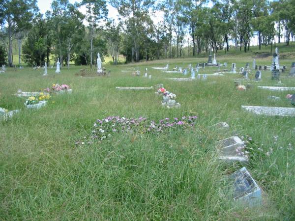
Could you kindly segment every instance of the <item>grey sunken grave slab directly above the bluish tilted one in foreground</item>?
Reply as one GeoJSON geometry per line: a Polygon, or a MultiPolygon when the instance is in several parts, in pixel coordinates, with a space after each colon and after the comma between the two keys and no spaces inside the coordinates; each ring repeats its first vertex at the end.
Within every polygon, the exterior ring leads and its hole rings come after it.
{"type": "Polygon", "coordinates": [[[244,142],[234,136],[216,142],[218,159],[226,162],[248,162],[248,156],[244,153],[244,142]]]}

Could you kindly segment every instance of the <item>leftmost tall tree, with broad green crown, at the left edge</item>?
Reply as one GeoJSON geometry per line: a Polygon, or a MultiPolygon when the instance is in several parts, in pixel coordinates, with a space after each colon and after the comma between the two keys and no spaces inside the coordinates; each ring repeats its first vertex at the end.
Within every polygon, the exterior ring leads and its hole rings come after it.
{"type": "Polygon", "coordinates": [[[12,38],[28,26],[38,11],[36,0],[1,0],[0,1],[0,21],[6,28],[7,41],[0,36],[1,41],[7,47],[8,65],[13,65],[12,60],[12,38]]]}

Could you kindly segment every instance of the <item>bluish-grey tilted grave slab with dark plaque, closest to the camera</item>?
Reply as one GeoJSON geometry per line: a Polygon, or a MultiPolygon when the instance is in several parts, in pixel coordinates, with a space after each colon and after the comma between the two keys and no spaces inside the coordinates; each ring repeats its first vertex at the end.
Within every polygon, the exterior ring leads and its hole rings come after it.
{"type": "Polygon", "coordinates": [[[245,167],[237,170],[228,178],[229,195],[236,203],[249,207],[262,204],[262,191],[245,167]]]}

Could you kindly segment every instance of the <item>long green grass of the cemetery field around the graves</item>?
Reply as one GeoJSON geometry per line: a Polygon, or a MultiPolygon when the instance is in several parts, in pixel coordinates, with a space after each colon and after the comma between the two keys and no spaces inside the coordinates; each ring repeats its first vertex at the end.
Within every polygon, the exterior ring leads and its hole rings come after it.
{"type": "MultiPolygon", "coordinates": [[[[280,65],[290,70],[295,60],[289,50],[280,65]],[[288,58],[288,59],[287,59],[288,58]]],[[[246,62],[254,54],[217,55],[217,61],[246,62]]],[[[169,60],[170,67],[193,66],[207,58],[169,60]]],[[[257,64],[271,57],[257,57],[257,64]]],[[[295,118],[253,115],[241,105],[292,107],[287,93],[260,90],[257,85],[276,85],[269,71],[253,87],[237,91],[238,74],[208,77],[207,81],[174,82],[151,69],[166,60],[139,63],[152,79],[133,77],[121,70],[137,64],[107,66],[110,77],[76,77],[81,67],[72,66],[55,74],[48,69],[8,69],[0,75],[0,107],[21,112],[0,122],[0,220],[295,220],[295,118]],[[52,95],[46,107],[27,110],[25,99],[14,93],[41,91],[53,83],[66,83],[72,95],[52,95]],[[180,109],[166,109],[154,91],[118,91],[116,86],[153,86],[163,83],[177,94],[180,109]],[[281,98],[267,100],[268,95],[281,98]],[[191,130],[159,134],[117,134],[110,141],[75,145],[88,136],[96,119],[110,115],[148,117],[148,120],[197,115],[191,130]],[[210,125],[226,121],[227,132],[210,125]],[[215,141],[230,136],[249,136],[247,169],[263,189],[263,205],[236,206],[223,196],[224,177],[241,165],[226,165],[216,159],[215,141]],[[278,136],[275,139],[275,136],[278,136]],[[260,151],[258,148],[263,149],[260,151]],[[266,152],[273,152],[267,156],[266,152]]],[[[200,70],[211,74],[216,67],[200,70]]],[[[295,78],[281,76],[284,86],[295,78]]],[[[254,73],[250,78],[254,78],[254,73]]],[[[241,80],[242,83],[247,83],[241,80]]]]}

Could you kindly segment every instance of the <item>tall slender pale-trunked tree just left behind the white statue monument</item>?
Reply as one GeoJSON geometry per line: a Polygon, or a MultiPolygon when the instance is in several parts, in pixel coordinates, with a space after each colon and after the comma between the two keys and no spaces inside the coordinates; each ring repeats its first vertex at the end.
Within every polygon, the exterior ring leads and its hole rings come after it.
{"type": "Polygon", "coordinates": [[[85,5],[87,9],[86,21],[89,24],[90,67],[92,68],[93,39],[95,37],[99,22],[107,17],[108,9],[106,6],[106,0],[82,0],[81,5],[85,5]]]}

